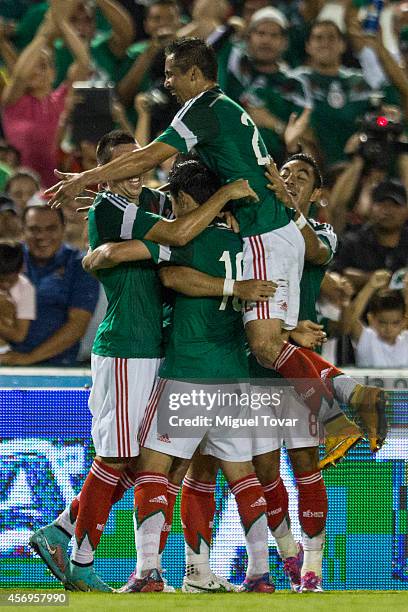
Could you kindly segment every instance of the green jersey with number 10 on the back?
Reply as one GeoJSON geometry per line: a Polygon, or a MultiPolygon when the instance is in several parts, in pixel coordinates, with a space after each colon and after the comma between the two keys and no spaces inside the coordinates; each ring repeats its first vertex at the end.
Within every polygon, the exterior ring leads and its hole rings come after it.
{"type": "MultiPolygon", "coordinates": [[[[240,279],[242,242],[223,224],[205,229],[185,247],[161,248],[160,259],[216,277],[240,279]]],[[[241,304],[232,297],[177,294],[172,329],[159,375],[181,379],[248,377],[241,304]]]]}

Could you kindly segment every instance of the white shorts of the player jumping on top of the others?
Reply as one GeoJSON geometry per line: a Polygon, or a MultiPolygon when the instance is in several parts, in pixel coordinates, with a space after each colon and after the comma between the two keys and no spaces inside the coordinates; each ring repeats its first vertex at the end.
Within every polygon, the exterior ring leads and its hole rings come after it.
{"type": "Polygon", "coordinates": [[[304,259],[305,241],[293,221],[266,234],[244,238],[244,280],[270,280],[278,285],[267,302],[245,304],[245,325],[259,319],[280,319],[284,329],[296,327],[304,259]]]}

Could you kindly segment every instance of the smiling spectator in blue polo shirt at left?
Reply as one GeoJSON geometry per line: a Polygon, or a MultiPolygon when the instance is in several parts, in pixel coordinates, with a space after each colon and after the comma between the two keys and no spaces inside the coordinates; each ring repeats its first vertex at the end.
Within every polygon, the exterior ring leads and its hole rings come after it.
{"type": "Polygon", "coordinates": [[[72,366],[95,309],[98,283],[83,271],[80,251],[63,244],[61,211],[30,206],[23,223],[25,270],[37,291],[37,319],[1,363],[72,366]]]}

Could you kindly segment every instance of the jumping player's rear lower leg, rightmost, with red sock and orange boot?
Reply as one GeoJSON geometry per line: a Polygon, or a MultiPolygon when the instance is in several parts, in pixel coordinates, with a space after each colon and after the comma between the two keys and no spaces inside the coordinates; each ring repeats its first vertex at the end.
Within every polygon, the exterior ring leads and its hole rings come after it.
{"type": "Polygon", "coordinates": [[[360,420],[372,452],[381,448],[387,435],[385,392],[379,387],[359,384],[314,351],[301,349],[313,361],[322,380],[341,404],[348,404],[360,420]]]}

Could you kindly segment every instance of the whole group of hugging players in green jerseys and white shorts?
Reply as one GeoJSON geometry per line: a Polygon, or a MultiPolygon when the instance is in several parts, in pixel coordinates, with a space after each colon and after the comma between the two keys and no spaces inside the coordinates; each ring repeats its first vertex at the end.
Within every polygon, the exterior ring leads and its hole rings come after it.
{"type": "MultiPolygon", "coordinates": [[[[83,261],[108,298],[92,352],[96,457],[70,506],[30,539],[70,590],[113,591],[93,560],[110,509],[130,488],[137,559],[120,592],[174,590],[162,578],[161,555],[180,488],[183,591],[235,590],[209,564],[221,469],[248,553],[239,590],[274,592],[270,530],[292,590],[322,591],[327,494],[321,470],[364,436],[373,452],[385,437],[382,391],[358,384],[311,350],[324,336],[316,300],[336,249],[332,228],[309,218],[320,198],[319,168],[299,153],[278,171],[249,115],[216,81],[209,46],[193,38],[172,43],[165,86],[183,106],[171,125],[143,148],[125,132],[110,132],[98,144],[96,168],[59,174],[50,190],[51,204],[63,206],[88,185],[105,186],[89,210],[83,261]],[[176,154],[171,198],[144,187],[143,174],[176,154]],[[166,333],[163,287],[174,297],[166,333]],[[270,389],[274,378],[287,379],[292,392],[280,406],[267,406],[274,426],[261,435],[244,428],[237,435],[211,420],[183,436],[168,427],[172,398],[218,397],[231,385],[251,395],[270,389]],[[289,431],[287,421],[300,426],[289,431]],[[298,487],[299,543],[279,472],[282,446],[298,487]]],[[[216,410],[241,417],[236,397],[216,410]]],[[[183,410],[197,414],[193,402],[184,401],[183,410]]]]}

